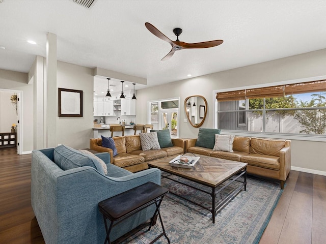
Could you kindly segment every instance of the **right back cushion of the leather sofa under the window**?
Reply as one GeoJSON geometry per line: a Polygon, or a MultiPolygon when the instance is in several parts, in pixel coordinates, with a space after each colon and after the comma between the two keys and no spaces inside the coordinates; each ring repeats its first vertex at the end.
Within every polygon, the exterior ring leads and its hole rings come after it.
{"type": "Polygon", "coordinates": [[[285,146],[285,140],[251,138],[250,153],[280,157],[280,150],[285,146]]]}

